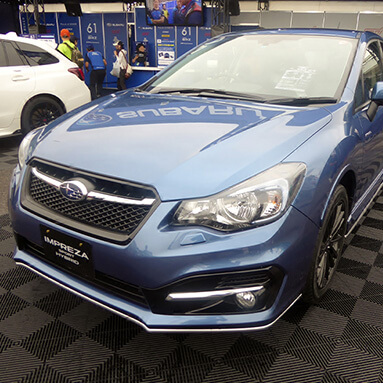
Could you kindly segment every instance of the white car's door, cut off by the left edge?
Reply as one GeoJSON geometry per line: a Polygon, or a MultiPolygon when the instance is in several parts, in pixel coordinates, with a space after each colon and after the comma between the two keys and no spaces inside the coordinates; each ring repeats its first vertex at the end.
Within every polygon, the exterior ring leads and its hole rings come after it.
{"type": "Polygon", "coordinates": [[[35,75],[22,52],[12,41],[0,41],[0,134],[19,129],[22,107],[35,88],[35,75]],[[14,120],[17,124],[14,128],[14,120]],[[13,125],[11,125],[14,123],[13,125]]]}

